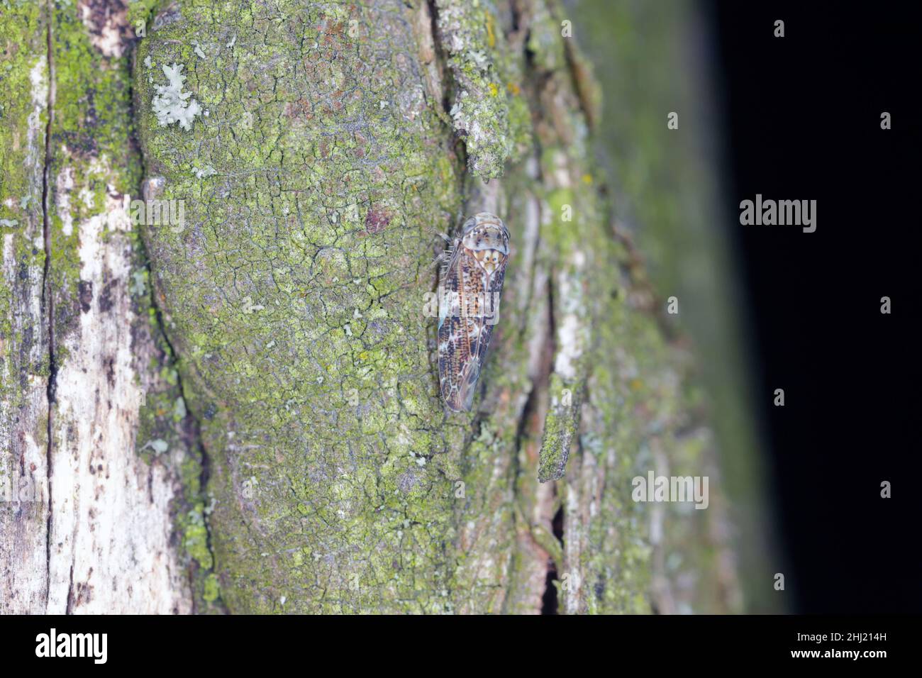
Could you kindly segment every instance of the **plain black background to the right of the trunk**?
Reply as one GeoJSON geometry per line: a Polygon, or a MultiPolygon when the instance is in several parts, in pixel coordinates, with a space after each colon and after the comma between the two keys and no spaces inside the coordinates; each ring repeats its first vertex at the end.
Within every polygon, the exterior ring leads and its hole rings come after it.
{"type": "Polygon", "coordinates": [[[727,214],[757,193],[818,202],[813,233],[739,223],[727,232],[749,291],[790,612],[922,609],[919,7],[707,10],[723,74],[727,214]],[[774,38],[779,18],[784,38],[774,38]],[[772,405],[775,388],[785,407],[772,405]],[[881,498],[885,480],[891,499],[881,498]]]}

